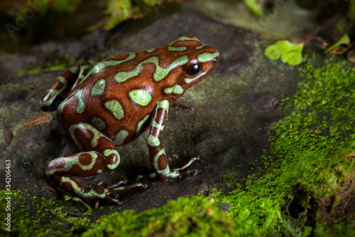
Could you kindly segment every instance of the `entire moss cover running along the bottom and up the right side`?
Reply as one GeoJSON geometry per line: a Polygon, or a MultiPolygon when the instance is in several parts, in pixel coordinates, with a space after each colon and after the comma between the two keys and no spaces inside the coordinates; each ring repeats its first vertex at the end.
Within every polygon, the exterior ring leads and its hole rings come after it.
{"type": "MultiPolygon", "coordinates": [[[[312,65],[315,61],[307,56],[300,65],[304,80],[295,97],[282,102],[281,110],[289,115],[271,128],[271,149],[261,157],[258,173],[242,184],[229,182],[228,193],[214,189],[209,197],[182,197],[158,209],[102,216],[97,223],[69,218],[52,201],[38,199],[32,211],[13,214],[13,233],[45,236],[60,232],[53,228],[58,223],[67,223],[70,228],[61,234],[82,234],[88,228],[84,236],[354,236],[354,219],[346,218],[354,210],[335,220],[317,211],[315,203],[332,196],[332,214],[349,198],[339,189],[351,184],[355,173],[354,157],[346,157],[355,150],[355,68],[345,60],[312,65]],[[231,204],[229,211],[218,207],[223,203],[231,204]],[[43,218],[49,223],[41,224],[43,218]]],[[[228,180],[238,173],[229,172],[228,180]]],[[[354,195],[354,185],[347,194],[354,195]]]]}

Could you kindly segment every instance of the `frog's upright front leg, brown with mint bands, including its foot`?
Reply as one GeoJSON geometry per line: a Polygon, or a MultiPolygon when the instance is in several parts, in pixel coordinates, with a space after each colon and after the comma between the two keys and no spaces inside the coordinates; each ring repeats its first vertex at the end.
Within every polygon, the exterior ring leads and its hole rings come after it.
{"type": "Polygon", "coordinates": [[[192,157],[185,166],[177,169],[170,169],[168,159],[166,157],[163,145],[160,142],[160,135],[163,132],[166,118],[168,117],[169,101],[160,100],[155,106],[153,111],[153,117],[151,120],[151,130],[147,139],[149,157],[155,173],[150,174],[149,177],[159,177],[161,180],[166,181],[168,179],[177,179],[187,174],[196,175],[197,170],[183,171],[192,164],[199,157],[192,157]]]}

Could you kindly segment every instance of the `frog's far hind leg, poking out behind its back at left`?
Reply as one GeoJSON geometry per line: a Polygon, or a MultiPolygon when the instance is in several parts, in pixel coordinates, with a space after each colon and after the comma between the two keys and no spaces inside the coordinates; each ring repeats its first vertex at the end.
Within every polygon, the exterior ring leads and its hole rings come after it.
{"type": "Polygon", "coordinates": [[[40,109],[43,111],[57,110],[61,100],[65,99],[67,93],[80,83],[91,68],[91,63],[82,63],[66,70],[58,78],[55,78],[40,100],[40,109]],[[57,101],[58,103],[56,103],[57,101]]]}

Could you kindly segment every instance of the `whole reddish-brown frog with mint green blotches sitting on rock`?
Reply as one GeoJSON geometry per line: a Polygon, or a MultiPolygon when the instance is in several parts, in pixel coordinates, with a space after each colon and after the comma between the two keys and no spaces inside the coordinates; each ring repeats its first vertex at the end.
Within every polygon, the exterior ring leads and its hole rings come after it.
{"type": "Polygon", "coordinates": [[[150,128],[146,144],[153,172],[138,178],[168,181],[195,176],[197,170],[187,167],[200,157],[171,168],[160,136],[170,106],[206,78],[218,60],[217,49],[195,36],[182,36],[160,48],[69,68],[45,92],[40,109],[58,110],[60,123],[77,152],[50,161],[45,175],[83,199],[123,204],[116,198],[119,192],[148,185],[127,184],[127,179],[122,179],[110,185],[84,186],[75,178],[113,172],[121,159],[116,146],[128,144],[150,128]]]}

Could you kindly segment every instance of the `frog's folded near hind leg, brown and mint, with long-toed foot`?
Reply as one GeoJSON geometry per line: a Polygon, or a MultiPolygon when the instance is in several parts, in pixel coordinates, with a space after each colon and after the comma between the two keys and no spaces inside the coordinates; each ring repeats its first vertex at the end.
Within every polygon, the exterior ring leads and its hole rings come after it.
{"type": "Polygon", "coordinates": [[[87,123],[79,122],[71,125],[69,133],[82,152],[53,159],[45,169],[47,177],[53,179],[63,189],[83,198],[104,199],[121,204],[121,201],[110,195],[136,186],[146,188],[146,184],[141,183],[118,186],[125,181],[111,186],[87,187],[80,184],[72,177],[89,177],[116,169],[120,161],[119,152],[111,139],[87,123]]]}

